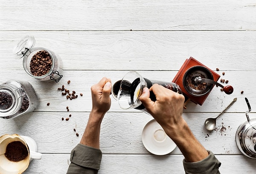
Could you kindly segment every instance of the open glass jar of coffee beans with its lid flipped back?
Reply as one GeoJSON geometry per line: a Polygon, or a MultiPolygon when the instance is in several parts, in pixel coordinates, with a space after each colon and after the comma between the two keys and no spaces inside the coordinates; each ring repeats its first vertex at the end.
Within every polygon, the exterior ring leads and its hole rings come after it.
{"type": "Polygon", "coordinates": [[[35,38],[25,36],[14,47],[13,53],[17,58],[23,58],[23,67],[31,77],[41,81],[55,81],[58,83],[63,75],[61,58],[49,49],[35,47],[35,38]]]}

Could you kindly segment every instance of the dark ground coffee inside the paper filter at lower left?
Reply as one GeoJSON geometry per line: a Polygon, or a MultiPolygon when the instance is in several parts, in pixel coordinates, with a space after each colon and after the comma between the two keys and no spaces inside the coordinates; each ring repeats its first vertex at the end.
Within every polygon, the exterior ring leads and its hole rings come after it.
{"type": "Polygon", "coordinates": [[[19,162],[28,156],[29,152],[25,145],[20,141],[10,142],[6,146],[4,154],[9,161],[19,162]]]}

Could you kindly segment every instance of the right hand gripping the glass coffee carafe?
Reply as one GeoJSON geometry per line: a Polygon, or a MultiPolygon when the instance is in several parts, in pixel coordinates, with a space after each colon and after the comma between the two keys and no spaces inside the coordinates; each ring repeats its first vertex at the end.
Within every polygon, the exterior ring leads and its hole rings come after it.
{"type": "Polygon", "coordinates": [[[158,84],[154,84],[149,90],[145,87],[143,94],[140,96],[140,101],[166,133],[170,128],[177,129],[178,125],[183,123],[184,100],[183,95],[158,84]],[[156,96],[155,102],[149,98],[150,91],[156,96]]]}

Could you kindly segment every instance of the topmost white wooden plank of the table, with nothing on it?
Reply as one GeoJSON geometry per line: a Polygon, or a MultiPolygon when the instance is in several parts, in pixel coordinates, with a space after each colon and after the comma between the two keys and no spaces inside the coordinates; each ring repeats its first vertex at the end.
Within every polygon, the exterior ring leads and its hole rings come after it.
{"type": "Polygon", "coordinates": [[[1,30],[255,30],[255,0],[0,1],[1,30]]]}

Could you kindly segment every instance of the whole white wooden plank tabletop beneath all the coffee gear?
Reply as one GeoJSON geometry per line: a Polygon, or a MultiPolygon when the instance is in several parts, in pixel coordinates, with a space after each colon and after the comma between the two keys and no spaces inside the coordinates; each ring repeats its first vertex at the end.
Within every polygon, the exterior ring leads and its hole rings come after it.
{"type": "MultiPolygon", "coordinates": [[[[234,92],[226,95],[214,87],[202,106],[187,104],[184,118],[222,162],[221,173],[255,173],[256,160],[241,154],[235,134],[246,120],[244,97],[252,107],[249,116],[256,117],[256,0],[0,0],[0,82],[29,81],[40,98],[34,112],[1,119],[0,134],[18,133],[38,143],[42,159],[33,160],[24,173],[64,174],[87,123],[93,84],[103,76],[115,82],[130,70],[172,81],[190,56],[219,68],[216,72],[234,92]],[[60,55],[64,77],[58,84],[29,77],[22,60],[14,59],[12,49],[25,35],[35,37],[35,46],[60,55]],[[57,90],[62,84],[84,95],[67,100],[57,90]],[[227,130],[207,131],[205,119],[217,116],[235,97],[237,102],[217,120],[217,128],[227,130]],[[61,120],[70,113],[69,121],[61,120]]],[[[164,156],[144,148],[141,133],[151,119],[138,110],[120,109],[112,98],[102,122],[100,174],[184,173],[178,148],[164,156]]]]}

